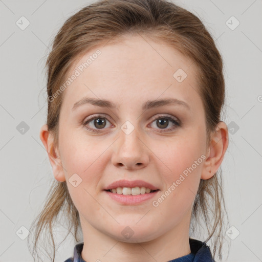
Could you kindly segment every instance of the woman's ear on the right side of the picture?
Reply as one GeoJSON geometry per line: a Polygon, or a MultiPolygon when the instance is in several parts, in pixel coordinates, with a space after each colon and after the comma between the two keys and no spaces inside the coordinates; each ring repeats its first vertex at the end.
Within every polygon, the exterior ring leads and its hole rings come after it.
{"type": "Polygon", "coordinates": [[[210,145],[206,151],[206,160],[201,179],[206,180],[214,176],[219,169],[228,147],[228,128],[225,122],[220,121],[212,133],[210,145]]]}

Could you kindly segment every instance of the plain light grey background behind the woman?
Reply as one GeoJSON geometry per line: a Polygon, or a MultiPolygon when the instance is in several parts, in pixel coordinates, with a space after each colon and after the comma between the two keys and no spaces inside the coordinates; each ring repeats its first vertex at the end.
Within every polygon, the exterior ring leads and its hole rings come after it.
{"type": "MultiPolygon", "coordinates": [[[[26,230],[21,226],[30,228],[54,179],[39,139],[47,113],[44,65],[51,41],[65,19],[89,3],[0,0],[0,261],[33,261],[26,239],[20,239],[17,232],[23,235],[26,230]],[[21,16],[30,21],[25,30],[16,25],[21,16]],[[24,134],[19,129],[25,125],[22,121],[29,126],[24,134]]],[[[222,170],[233,228],[226,236],[224,253],[230,246],[227,261],[262,261],[262,1],[175,3],[202,19],[225,63],[227,105],[223,121],[231,133],[222,170]],[[226,23],[231,16],[240,23],[234,30],[227,23],[235,26],[235,20],[226,23]]],[[[62,228],[57,229],[58,240],[62,233],[62,228]]],[[[56,261],[72,256],[74,245],[69,236],[59,246],[56,261]]]]}

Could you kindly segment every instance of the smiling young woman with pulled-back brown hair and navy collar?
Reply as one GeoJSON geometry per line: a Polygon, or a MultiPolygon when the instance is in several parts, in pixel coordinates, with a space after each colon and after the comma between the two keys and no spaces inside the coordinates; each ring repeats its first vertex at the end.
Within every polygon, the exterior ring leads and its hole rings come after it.
{"type": "Polygon", "coordinates": [[[34,252],[48,229],[54,261],[59,215],[83,236],[66,262],[221,259],[225,82],[201,20],[164,0],[102,0],[65,21],[47,66],[55,180],[34,252]],[[204,242],[190,237],[200,216],[204,242]]]}

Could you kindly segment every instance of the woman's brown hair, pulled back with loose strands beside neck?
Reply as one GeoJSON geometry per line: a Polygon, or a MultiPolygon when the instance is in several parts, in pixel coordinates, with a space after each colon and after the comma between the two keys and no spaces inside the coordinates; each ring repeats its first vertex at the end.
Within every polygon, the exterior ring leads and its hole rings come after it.
{"type": "MultiPolygon", "coordinates": [[[[151,40],[164,42],[195,63],[199,71],[198,92],[205,108],[207,145],[209,145],[210,134],[221,121],[220,114],[225,103],[222,57],[201,20],[167,0],[100,0],[68,18],[55,36],[52,51],[47,59],[48,97],[52,98],[57,92],[77,57],[110,40],[114,41],[131,34],[140,34],[151,40]]],[[[55,99],[48,99],[47,125],[54,135],[54,147],[58,145],[62,99],[63,93],[55,99]]],[[[223,207],[225,209],[222,189],[221,169],[211,179],[200,181],[190,224],[194,231],[200,222],[200,216],[202,217],[209,234],[205,242],[215,237],[213,256],[219,248],[220,259],[223,244],[223,207]]],[[[45,206],[31,226],[30,231],[35,229],[32,252],[34,257],[35,253],[38,257],[37,243],[42,231],[48,229],[53,245],[53,257],[49,256],[54,261],[56,249],[53,223],[57,222],[59,214],[61,217],[67,217],[68,234],[73,227],[75,241],[79,242],[78,230],[81,231],[81,225],[78,211],[71,200],[66,182],[54,180],[45,206]]]]}

